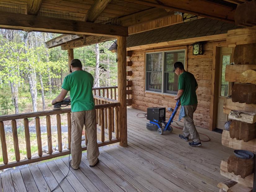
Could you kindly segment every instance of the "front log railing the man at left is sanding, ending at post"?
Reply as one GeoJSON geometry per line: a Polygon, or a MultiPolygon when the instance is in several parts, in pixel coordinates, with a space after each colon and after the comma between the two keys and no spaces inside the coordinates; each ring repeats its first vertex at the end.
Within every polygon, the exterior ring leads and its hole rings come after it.
{"type": "MultiPolygon", "coordinates": [[[[95,98],[95,101],[97,101],[98,104],[100,104],[100,105],[97,105],[97,102],[96,102],[96,105],[95,105],[95,109],[97,111],[97,122],[101,123],[101,142],[98,142],[98,146],[100,147],[100,146],[119,142],[120,141],[119,139],[120,103],[116,102],[116,100],[107,99],[100,96],[94,96],[94,98],[95,98]],[[108,116],[107,116],[107,119],[105,119],[105,114],[107,113],[108,113],[108,116]],[[114,120],[114,117],[115,117],[115,120],[114,120]],[[105,126],[106,125],[105,122],[108,122],[107,126],[105,126]],[[108,141],[105,141],[105,127],[109,128],[108,141]],[[115,131],[115,134],[116,134],[114,139],[112,138],[113,131],[115,131]]],[[[86,144],[87,144],[88,142],[87,135],[85,136],[86,136],[86,144]]],[[[3,163],[4,163],[0,165],[0,170],[67,155],[70,153],[70,144],[71,144],[71,109],[57,109],[57,110],[40,111],[40,112],[33,112],[33,113],[0,116],[0,139],[1,139],[2,155],[3,155],[3,163]],[[67,123],[68,123],[68,149],[67,150],[62,149],[60,114],[67,114],[67,123]],[[53,115],[56,115],[56,120],[57,120],[57,139],[58,139],[57,152],[52,152],[51,117],[53,115]],[[40,128],[40,117],[43,117],[43,116],[46,116],[47,143],[48,143],[48,153],[49,153],[45,155],[43,155],[43,151],[42,151],[42,139],[41,139],[41,128],[40,128]],[[36,157],[31,157],[28,118],[35,118],[35,129],[36,129],[37,146],[38,146],[38,156],[36,157]],[[24,119],[27,159],[20,159],[20,150],[19,150],[19,143],[18,143],[17,123],[16,123],[17,119],[24,119]],[[15,159],[16,159],[16,161],[13,161],[13,162],[8,161],[7,143],[6,143],[5,129],[4,129],[4,121],[8,121],[8,120],[11,120],[14,152],[15,152],[15,159]]],[[[82,150],[87,150],[87,147],[86,146],[82,147],[82,150]]]]}

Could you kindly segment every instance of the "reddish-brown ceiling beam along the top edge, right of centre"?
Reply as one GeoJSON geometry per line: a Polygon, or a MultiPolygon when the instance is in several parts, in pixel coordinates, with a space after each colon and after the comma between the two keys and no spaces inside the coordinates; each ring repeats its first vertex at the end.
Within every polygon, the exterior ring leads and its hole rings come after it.
{"type": "Polygon", "coordinates": [[[229,22],[235,22],[235,9],[232,7],[220,5],[215,2],[205,0],[124,0],[130,3],[140,5],[159,7],[164,9],[173,9],[183,13],[190,13],[203,17],[210,17],[229,22]]]}

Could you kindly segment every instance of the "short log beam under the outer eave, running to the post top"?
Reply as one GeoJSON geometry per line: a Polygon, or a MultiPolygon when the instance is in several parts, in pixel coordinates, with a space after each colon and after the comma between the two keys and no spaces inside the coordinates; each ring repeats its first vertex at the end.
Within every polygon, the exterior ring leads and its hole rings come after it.
{"type": "Polygon", "coordinates": [[[84,37],[84,38],[79,38],[75,41],[71,41],[71,42],[66,42],[64,44],[61,45],[61,49],[62,50],[67,50],[70,48],[78,48],[78,47],[84,47],[84,46],[88,46],[88,45],[94,45],[96,43],[101,43],[104,42],[106,40],[114,40],[116,38],[113,37],[106,37],[106,36],[88,36],[88,37],[84,37]]]}

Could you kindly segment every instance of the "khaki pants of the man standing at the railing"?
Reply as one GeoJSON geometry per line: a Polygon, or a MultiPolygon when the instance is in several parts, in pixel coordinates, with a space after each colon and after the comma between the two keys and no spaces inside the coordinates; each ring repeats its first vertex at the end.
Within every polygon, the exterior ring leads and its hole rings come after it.
{"type": "Polygon", "coordinates": [[[83,125],[88,138],[87,158],[89,164],[94,165],[100,154],[97,144],[96,110],[72,112],[71,119],[71,166],[77,169],[81,162],[83,125]]]}

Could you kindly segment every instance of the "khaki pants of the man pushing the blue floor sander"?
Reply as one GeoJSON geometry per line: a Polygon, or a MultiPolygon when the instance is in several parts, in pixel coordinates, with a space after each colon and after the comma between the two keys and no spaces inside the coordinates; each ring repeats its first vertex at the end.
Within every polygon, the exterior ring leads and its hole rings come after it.
{"type": "Polygon", "coordinates": [[[184,128],[183,128],[183,136],[189,137],[191,135],[191,139],[195,143],[200,142],[200,136],[195,128],[193,121],[193,114],[197,108],[197,105],[184,105],[186,116],[184,117],[184,128]]]}

